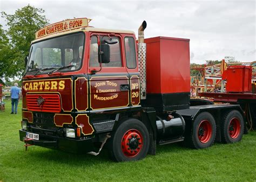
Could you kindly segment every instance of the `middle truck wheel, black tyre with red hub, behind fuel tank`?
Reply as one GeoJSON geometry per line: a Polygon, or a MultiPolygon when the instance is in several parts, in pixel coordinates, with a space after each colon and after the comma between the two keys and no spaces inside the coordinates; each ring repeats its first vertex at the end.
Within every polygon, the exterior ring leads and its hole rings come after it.
{"type": "Polygon", "coordinates": [[[214,117],[208,113],[200,113],[192,124],[190,135],[185,137],[185,145],[194,149],[203,149],[214,143],[216,124],[214,117]]]}

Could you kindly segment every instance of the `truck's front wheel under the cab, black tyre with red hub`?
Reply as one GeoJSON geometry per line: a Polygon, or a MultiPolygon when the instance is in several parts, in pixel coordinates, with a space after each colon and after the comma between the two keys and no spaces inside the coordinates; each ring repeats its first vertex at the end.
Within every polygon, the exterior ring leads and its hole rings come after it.
{"type": "Polygon", "coordinates": [[[149,139],[149,131],[141,121],[127,119],[111,135],[110,156],[117,162],[143,159],[149,150],[149,139]]]}

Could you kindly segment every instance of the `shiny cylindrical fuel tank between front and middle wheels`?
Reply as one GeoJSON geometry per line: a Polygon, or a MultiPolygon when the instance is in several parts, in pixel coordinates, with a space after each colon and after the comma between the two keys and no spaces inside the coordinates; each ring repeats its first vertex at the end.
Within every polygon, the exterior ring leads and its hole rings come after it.
{"type": "Polygon", "coordinates": [[[177,114],[165,114],[157,116],[157,139],[171,140],[183,136],[185,131],[184,118],[177,114]]]}

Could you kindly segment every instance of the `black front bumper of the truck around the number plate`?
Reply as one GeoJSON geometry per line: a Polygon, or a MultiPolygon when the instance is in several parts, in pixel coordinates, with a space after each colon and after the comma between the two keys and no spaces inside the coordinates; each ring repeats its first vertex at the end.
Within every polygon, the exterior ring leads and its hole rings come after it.
{"type": "MultiPolygon", "coordinates": [[[[24,142],[26,131],[19,130],[19,139],[24,142]]],[[[39,141],[31,140],[26,142],[31,145],[43,146],[44,148],[63,150],[71,153],[87,153],[95,151],[91,138],[71,139],[67,137],[39,135],[39,141]]]]}

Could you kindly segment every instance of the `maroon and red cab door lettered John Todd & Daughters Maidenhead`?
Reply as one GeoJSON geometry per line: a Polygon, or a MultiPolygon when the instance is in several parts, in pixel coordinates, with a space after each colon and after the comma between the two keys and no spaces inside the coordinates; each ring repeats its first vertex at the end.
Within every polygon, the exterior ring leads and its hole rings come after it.
{"type": "Polygon", "coordinates": [[[108,34],[92,34],[89,55],[89,98],[93,111],[124,109],[130,105],[130,81],[122,55],[122,38],[111,34],[117,40],[110,47],[110,62],[99,65],[99,45],[107,44],[108,34]],[[94,72],[94,73],[93,73],[94,72]]]}

